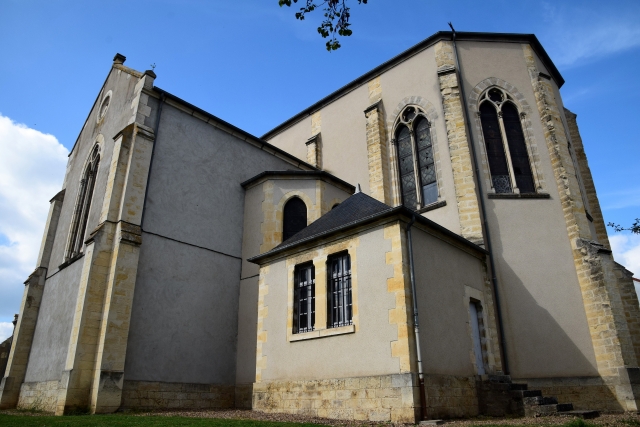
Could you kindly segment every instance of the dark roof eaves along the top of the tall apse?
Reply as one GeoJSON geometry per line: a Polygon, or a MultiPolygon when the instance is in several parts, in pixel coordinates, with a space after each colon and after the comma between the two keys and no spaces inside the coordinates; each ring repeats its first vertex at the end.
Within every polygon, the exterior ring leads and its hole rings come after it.
{"type": "MultiPolygon", "coordinates": [[[[349,92],[361,86],[362,84],[368,82],[372,78],[375,78],[377,75],[382,74],[385,71],[397,66],[398,64],[406,61],[407,59],[411,58],[417,53],[420,53],[421,51],[431,47],[432,45],[439,42],[440,40],[443,40],[443,39],[451,40],[452,34],[453,33],[451,31],[438,31],[437,33],[427,37],[421,42],[411,46],[409,49],[405,50],[404,52],[401,52],[400,54],[394,56],[388,61],[383,62],[382,64],[378,65],[374,69],[366,72],[360,77],[357,77],[355,80],[352,80],[351,82],[342,86],[338,90],[330,93],[329,95],[325,96],[318,102],[312,104],[310,107],[305,108],[304,110],[294,115],[293,117],[289,118],[288,120],[285,120],[278,126],[274,127],[273,129],[271,129],[270,131],[262,135],[261,138],[268,139],[282,132],[283,130],[294,125],[301,119],[312,115],[313,113],[318,111],[320,108],[324,107],[325,105],[348,94],[349,92]]],[[[538,38],[534,34],[456,32],[456,39],[462,40],[462,41],[482,40],[482,41],[497,41],[497,42],[508,42],[508,43],[514,43],[514,42],[531,43],[531,45],[533,46],[533,50],[541,57],[544,64],[547,65],[547,67],[549,68],[549,71],[551,72],[552,77],[556,80],[558,87],[561,87],[564,84],[564,79],[560,75],[560,72],[558,71],[556,66],[553,64],[553,61],[551,61],[551,58],[549,57],[547,52],[544,50],[544,48],[542,47],[542,44],[540,44],[540,42],[538,41],[538,38]]]]}

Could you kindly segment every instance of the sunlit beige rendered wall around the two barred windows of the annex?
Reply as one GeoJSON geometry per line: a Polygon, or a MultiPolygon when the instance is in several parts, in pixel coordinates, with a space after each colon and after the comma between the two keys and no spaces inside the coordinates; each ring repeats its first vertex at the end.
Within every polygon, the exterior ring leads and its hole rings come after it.
{"type": "MultiPolygon", "coordinates": [[[[262,343],[262,356],[266,356],[262,381],[400,373],[399,360],[392,357],[390,345],[398,339],[397,326],[389,324],[389,310],[396,305],[394,295],[387,291],[387,279],[394,275],[393,267],[385,260],[385,253],[391,251],[391,241],[384,238],[383,228],[377,227],[351,238],[351,243],[352,275],[357,275],[354,280],[354,289],[357,289],[357,295],[354,293],[355,333],[289,342],[288,300],[293,270],[288,264],[292,260],[283,259],[266,267],[264,283],[268,293],[264,296],[264,305],[268,315],[264,319],[267,338],[262,343]]],[[[305,251],[299,253],[298,258],[308,255],[314,254],[305,251]]],[[[318,280],[317,273],[316,279],[317,294],[317,289],[326,284],[318,280]]]]}

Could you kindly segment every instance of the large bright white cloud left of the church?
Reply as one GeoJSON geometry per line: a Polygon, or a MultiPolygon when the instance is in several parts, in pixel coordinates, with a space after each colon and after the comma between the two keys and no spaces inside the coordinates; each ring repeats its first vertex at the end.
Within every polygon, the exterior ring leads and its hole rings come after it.
{"type": "Polygon", "coordinates": [[[62,188],[68,150],[55,136],[0,114],[0,318],[20,309],[35,268],[49,199],[62,188]]]}

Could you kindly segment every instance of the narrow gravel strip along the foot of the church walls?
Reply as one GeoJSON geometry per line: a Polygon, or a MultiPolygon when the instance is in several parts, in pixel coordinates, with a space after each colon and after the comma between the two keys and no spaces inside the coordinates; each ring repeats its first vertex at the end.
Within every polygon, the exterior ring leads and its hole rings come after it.
{"type": "MultiPolygon", "coordinates": [[[[45,415],[43,413],[24,412],[16,410],[0,411],[0,414],[38,416],[45,415]]],[[[134,416],[164,416],[164,417],[194,417],[194,418],[221,418],[221,419],[244,419],[258,421],[276,421],[290,423],[310,423],[322,424],[335,427],[355,427],[355,426],[384,426],[389,423],[376,423],[366,421],[341,421],[330,420],[327,418],[308,417],[303,415],[291,414],[267,414],[263,412],[250,410],[220,410],[220,411],[154,411],[154,412],[123,412],[123,415],[134,416]]],[[[117,415],[116,415],[117,416],[117,415]]],[[[488,425],[505,425],[505,426],[558,426],[565,424],[573,417],[567,416],[549,416],[540,418],[472,418],[464,420],[446,420],[444,425],[454,426],[488,426],[488,425]]],[[[588,424],[595,426],[608,427],[640,427],[640,415],[638,414],[604,414],[598,418],[586,420],[588,424]]],[[[408,427],[412,424],[396,424],[397,427],[408,427]]]]}

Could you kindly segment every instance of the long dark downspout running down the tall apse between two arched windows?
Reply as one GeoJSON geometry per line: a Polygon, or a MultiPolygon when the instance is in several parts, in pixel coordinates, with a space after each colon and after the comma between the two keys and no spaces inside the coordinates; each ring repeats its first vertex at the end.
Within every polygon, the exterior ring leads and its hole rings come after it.
{"type": "Polygon", "coordinates": [[[484,205],[484,197],[482,190],[482,178],[480,176],[480,168],[478,167],[478,159],[476,157],[476,147],[473,141],[473,135],[471,133],[471,123],[469,122],[469,115],[467,114],[467,97],[464,94],[464,84],[462,82],[462,68],[460,66],[460,61],[458,61],[458,47],[456,45],[456,30],[453,28],[451,22],[449,22],[449,26],[452,31],[452,41],[453,41],[453,54],[456,61],[456,75],[458,77],[458,86],[460,87],[460,97],[462,98],[462,114],[464,115],[464,121],[467,125],[469,135],[469,145],[471,146],[471,158],[473,159],[473,168],[475,169],[476,174],[476,182],[478,184],[478,199],[480,199],[480,212],[482,215],[482,227],[484,229],[484,235],[486,240],[486,249],[489,252],[489,266],[491,268],[491,283],[493,284],[493,289],[495,293],[496,300],[496,315],[498,320],[498,333],[500,334],[500,342],[501,353],[502,353],[502,369],[504,370],[505,375],[509,375],[509,362],[507,360],[507,343],[504,339],[504,328],[502,327],[502,310],[500,308],[500,294],[498,292],[498,278],[496,277],[496,268],[493,260],[493,250],[491,248],[491,233],[489,233],[489,224],[487,223],[487,214],[486,208],[484,205]]]}

